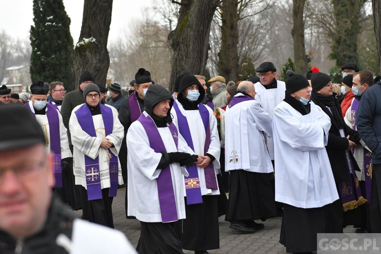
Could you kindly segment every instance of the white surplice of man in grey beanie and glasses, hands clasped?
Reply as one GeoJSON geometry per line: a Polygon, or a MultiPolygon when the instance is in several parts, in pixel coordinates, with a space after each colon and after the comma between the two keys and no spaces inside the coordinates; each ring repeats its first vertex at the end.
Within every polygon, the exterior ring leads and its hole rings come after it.
{"type": "MultiPolygon", "coordinates": [[[[86,174],[85,174],[85,155],[93,160],[98,157],[99,168],[101,175],[101,187],[110,187],[110,171],[109,162],[110,157],[108,150],[101,148],[102,138],[109,139],[114,147],[110,148],[111,156],[118,156],[120,146],[122,143],[124,129],[123,125],[118,119],[118,112],[115,108],[109,107],[112,110],[113,129],[112,133],[105,136],[105,125],[103,124],[102,114],[92,116],[94,128],[96,129],[97,137],[89,136],[82,130],[79,125],[77,115],[75,112],[84,104],[78,105],[73,109],[69,120],[69,129],[73,144],[73,169],[75,175],[75,184],[82,185],[87,189],[86,174]]],[[[87,107],[87,106],[86,106],[87,107]]],[[[107,106],[106,106],[107,107],[107,106]]],[[[89,111],[90,114],[90,111],[89,111]]],[[[118,183],[123,184],[122,171],[118,158],[118,183]]]]}

